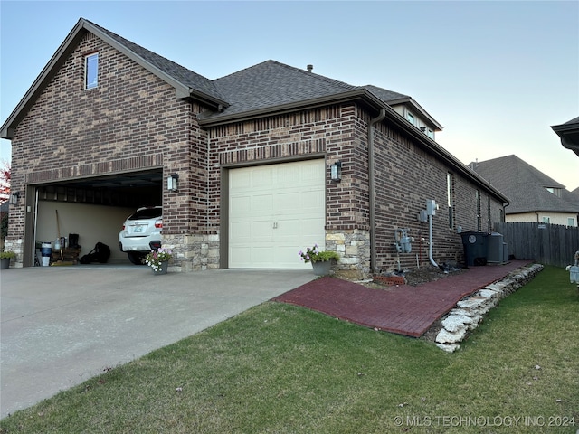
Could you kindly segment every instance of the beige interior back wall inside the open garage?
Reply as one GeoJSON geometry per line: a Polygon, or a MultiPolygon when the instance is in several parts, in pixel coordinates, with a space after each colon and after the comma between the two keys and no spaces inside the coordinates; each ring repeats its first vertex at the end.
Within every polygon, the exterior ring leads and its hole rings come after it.
{"type": "Polygon", "coordinates": [[[39,201],[36,241],[49,242],[58,238],[56,210],[61,236],[68,239],[70,233],[79,234],[80,256],[94,249],[97,242],[103,242],[110,248],[109,263],[130,264],[127,253],[119,250],[119,231],[127,217],[135,212],[134,208],[39,201]]]}

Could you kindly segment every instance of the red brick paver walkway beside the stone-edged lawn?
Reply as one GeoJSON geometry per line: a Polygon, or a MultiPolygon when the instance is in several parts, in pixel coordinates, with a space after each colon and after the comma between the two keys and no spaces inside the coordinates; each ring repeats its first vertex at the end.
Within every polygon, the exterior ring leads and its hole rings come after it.
{"type": "Polygon", "coordinates": [[[400,335],[420,337],[461,298],[528,263],[514,260],[506,265],[474,267],[418,287],[401,285],[386,290],[366,288],[339,278],[318,278],[274,301],[308,307],[400,335]]]}

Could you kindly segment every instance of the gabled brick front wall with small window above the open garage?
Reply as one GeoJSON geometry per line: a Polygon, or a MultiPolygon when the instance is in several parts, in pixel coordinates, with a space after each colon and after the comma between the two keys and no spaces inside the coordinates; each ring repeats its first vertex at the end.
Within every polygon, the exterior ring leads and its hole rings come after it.
{"type": "MultiPolygon", "coordinates": [[[[196,122],[203,109],[87,33],[15,131],[13,189],[139,170],[163,171],[163,179],[177,173],[178,193],[163,183],[164,233],[203,231],[207,139],[196,122]],[[99,86],[85,90],[90,52],[99,52],[99,86]]],[[[25,201],[11,210],[14,244],[24,237],[25,201]]]]}

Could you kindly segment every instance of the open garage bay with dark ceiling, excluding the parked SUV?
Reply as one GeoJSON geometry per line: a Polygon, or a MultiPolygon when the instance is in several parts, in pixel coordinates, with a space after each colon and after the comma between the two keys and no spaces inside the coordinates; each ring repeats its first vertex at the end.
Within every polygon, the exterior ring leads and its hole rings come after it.
{"type": "Polygon", "coordinates": [[[26,242],[33,253],[25,255],[24,260],[29,263],[24,265],[38,265],[39,244],[53,243],[59,238],[59,231],[65,248],[71,247],[70,235],[72,241],[78,235],[81,248],[78,252],[69,250],[69,254],[81,258],[102,242],[110,249],[107,263],[130,264],[128,254],[119,250],[119,231],[139,207],[162,204],[162,179],[159,168],[33,186],[34,212],[27,213],[33,240],[27,238],[26,242]]]}

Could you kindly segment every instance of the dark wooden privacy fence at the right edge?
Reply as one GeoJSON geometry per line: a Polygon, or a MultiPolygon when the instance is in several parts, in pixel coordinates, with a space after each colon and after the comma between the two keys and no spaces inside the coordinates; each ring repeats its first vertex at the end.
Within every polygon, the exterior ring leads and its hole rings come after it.
{"type": "Polygon", "coordinates": [[[508,244],[508,255],[516,259],[535,259],[544,265],[566,267],[574,264],[579,250],[579,228],[536,222],[495,223],[508,244]]]}

